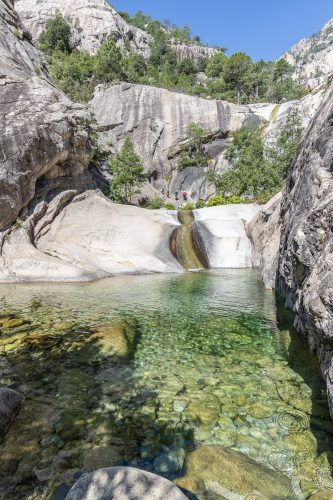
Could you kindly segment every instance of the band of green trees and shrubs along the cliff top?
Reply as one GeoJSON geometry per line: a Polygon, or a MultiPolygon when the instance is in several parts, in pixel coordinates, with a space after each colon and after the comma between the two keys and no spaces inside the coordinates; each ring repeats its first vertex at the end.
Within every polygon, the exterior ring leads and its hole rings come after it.
{"type": "MultiPolygon", "coordinates": [[[[126,15],[122,13],[127,19],[126,15]]],[[[60,12],[50,19],[40,36],[40,48],[47,54],[50,72],[61,89],[74,100],[88,101],[99,83],[127,81],[247,104],[299,99],[307,90],[291,78],[293,68],[284,59],[255,63],[245,52],[230,57],[224,48],[211,58],[179,60],[175,42],[200,44],[188,27],[164,26],[142,13],[130,19],[152,37],[150,56],[120,49],[109,39],[96,55],[78,51],[72,43],[69,20],[60,12]]]]}

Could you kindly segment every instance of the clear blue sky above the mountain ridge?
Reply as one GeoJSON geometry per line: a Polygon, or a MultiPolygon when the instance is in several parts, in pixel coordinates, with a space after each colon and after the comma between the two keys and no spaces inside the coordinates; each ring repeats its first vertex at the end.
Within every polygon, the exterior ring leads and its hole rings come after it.
{"type": "Polygon", "coordinates": [[[333,17],[332,0],[111,0],[117,10],[141,9],[155,19],[188,23],[193,34],[228,53],[277,59],[333,17]]]}

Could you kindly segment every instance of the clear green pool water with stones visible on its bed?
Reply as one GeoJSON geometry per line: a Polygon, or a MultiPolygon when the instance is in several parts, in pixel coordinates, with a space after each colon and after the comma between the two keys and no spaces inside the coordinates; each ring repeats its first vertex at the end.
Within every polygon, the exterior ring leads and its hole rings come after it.
{"type": "Polygon", "coordinates": [[[333,488],[317,362],[255,272],[1,286],[0,301],[1,384],[26,397],[1,498],[49,498],[115,464],[174,479],[209,444],[283,472],[293,498],[333,488]]]}

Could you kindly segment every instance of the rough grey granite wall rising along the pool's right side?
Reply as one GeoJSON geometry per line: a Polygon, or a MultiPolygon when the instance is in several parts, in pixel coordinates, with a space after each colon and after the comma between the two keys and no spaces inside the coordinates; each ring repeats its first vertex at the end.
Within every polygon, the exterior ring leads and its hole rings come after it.
{"type": "Polygon", "coordinates": [[[264,207],[248,231],[254,264],[286,297],[295,326],[318,354],[333,417],[332,100],[331,89],[307,129],[281,202],[264,207]]]}

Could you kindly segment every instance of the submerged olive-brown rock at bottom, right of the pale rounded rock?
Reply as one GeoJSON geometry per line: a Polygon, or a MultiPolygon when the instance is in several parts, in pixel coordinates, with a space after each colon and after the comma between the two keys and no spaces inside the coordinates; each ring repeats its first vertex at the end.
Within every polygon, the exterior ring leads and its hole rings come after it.
{"type": "MultiPolygon", "coordinates": [[[[196,478],[206,487],[217,483],[221,489],[228,490],[229,494],[243,495],[246,498],[253,495],[266,500],[281,500],[295,496],[289,480],[280,472],[268,469],[242,453],[218,445],[202,446],[190,453],[185,470],[181,484],[188,486],[191,486],[191,481],[187,483],[187,478],[196,478]]],[[[188,489],[195,493],[195,490],[188,489]]]]}

